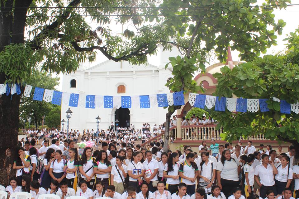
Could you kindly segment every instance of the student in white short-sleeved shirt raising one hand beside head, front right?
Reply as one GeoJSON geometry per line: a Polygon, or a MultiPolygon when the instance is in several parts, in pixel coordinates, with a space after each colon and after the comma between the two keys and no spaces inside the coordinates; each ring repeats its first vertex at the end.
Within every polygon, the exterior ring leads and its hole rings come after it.
{"type": "Polygon", "coordinates": [[[269,161],[269,156],[263,154],[262,164],[254,169],[254,180],[261,187],[260,197],[265,198],[268,190],[273,190],[274,194],[277,195],[276,187],[274,186],[274,174],[278,174],[276,167],[272,161],[269,161]],[[260,180],[258,177],[260,177],[260,180]]]}

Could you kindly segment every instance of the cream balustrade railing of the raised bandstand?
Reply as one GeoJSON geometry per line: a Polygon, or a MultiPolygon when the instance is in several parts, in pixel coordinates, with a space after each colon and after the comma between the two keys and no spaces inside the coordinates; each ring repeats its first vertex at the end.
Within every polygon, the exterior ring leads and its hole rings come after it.
{"type": "MultiPolygon", "coordinates": [[[[182,140],[221,140],[220,134],[222,133],[222,127],[216,130],[216,124],[211,125],[192,125],[192,126],[182,126],[182,140]]],[[[175,139],[177,140],[177,135],[175,134],[175,139]]],[[[251,136],[247,139],[241,137],[240,140],[266,140],[264,135],[259,134],[257,136],[251,136]]]]}

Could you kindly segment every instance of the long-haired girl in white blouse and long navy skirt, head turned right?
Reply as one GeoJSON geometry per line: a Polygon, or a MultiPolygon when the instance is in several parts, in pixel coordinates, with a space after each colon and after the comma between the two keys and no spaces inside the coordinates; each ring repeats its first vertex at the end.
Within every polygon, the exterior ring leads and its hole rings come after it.
{"type": "Polygon", "coordinates": [[[40,187],[43,187],[45,190],[50,188],[51,176],[49,174],[49,169],[50,169],[51,164],[55,160],[54,157],[55,157],[55,150],[53,148],[49,148],[47,150],[46,155],[43,160],[45,170],[40,175],[40,178],[41,178],[40,187]]]}

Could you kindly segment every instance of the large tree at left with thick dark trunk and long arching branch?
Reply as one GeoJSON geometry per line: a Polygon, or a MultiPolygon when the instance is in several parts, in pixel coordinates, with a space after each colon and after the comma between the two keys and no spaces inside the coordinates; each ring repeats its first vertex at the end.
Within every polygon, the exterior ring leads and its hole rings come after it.
{"type": "MultiPolygon", "coordinates": [[[[78,62],[94,61],[97,52],[116,62],[140,64],[156,53],[158,44],[169,48],[168,30],[159,23],[144,25],[143,12],[155,5],[154,0],[2,0],[0,5],[0,83],[20,83],[21,92],[26,77],[37,71],[70,73],[78,62]],[[110,23],[110,16],[139,28],[125,30],[122,40],[102,26],[110,23]],[[93,30],[89,19],[99,26],[93,30]]],[[[8,174],[0,177],[4,185],[15,172],[20,97],[0,98],[0,173],[8,174]]]]}

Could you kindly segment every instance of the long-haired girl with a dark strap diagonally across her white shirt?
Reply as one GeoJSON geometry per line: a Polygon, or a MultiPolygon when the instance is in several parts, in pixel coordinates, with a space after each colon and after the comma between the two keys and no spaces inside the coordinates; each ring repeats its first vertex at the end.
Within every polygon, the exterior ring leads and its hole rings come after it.
{"type": "Polygon", "coordinates": [[[81,174],[80,181],[85,180],[88,188],[93,190],[95,173],[93,172],[93,164],[96,158],[92,157],[92,148],[85,147],[79,161],[79,171],[81,174]]]}

